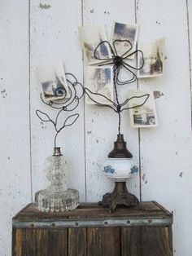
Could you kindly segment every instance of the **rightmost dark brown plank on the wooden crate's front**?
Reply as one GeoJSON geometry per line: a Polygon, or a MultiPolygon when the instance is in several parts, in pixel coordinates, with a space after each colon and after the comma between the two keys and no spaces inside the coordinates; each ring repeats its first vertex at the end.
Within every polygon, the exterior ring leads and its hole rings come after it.
{"type": "Polygon", "coordinates": [[[168,227],[122,227],[122,256],[172,256],[168,227]]]}

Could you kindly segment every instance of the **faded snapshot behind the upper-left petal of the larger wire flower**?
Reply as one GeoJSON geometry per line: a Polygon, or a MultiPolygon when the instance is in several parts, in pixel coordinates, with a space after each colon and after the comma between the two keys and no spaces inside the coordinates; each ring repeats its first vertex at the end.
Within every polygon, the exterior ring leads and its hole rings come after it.
{"type": "Polygon", "coordinates": [[[102,43],[100,46],[98,44],[103,41],[107,41],[107,35],[103,26],[99,25],[87,25],[79,28],[81,35],[81,42],[85,53],[85,59],[88,64],[99,64],[103,63],[103,61],[107,61],[106,59],[111,58],[111,51],[109,46],[106,43],[102,43]],[[94,57],[95,55],[98,59],[94,57]]]}

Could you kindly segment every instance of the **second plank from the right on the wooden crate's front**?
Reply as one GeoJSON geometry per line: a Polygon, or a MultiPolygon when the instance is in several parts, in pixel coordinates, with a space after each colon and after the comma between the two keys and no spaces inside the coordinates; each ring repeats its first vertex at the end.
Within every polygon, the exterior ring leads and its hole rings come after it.
{"type": "Polygon", "coordinates": [[[120,256],[120,227],[88,227],[88,256],[120,256]]]}

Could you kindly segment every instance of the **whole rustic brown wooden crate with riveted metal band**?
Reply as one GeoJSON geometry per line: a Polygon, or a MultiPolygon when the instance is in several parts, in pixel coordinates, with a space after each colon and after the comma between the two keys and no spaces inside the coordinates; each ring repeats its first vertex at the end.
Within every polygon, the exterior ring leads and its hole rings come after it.
{"type": "Polygon", "coordinates": [[[172,255],[172,214],[155,201],[114,214],[97,204],[58,214],[30,204],[12,224],[14,256],[172,255]]]}

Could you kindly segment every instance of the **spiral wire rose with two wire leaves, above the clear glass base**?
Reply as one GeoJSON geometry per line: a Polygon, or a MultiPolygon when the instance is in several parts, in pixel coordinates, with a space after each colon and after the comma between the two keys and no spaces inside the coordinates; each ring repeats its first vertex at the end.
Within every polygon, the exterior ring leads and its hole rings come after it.
{"type": "Polygon", "coordinates": [[[55,90],[55,95],[63,96],[63,99],[46,101],[45,99],[43,99],[42,95],[40,95],[41,100],[44,104],[50,106],[50,108],[55,108],[58,110],[55,120],[52,120],[47,113],[43,113],[41,110],[38,109],[36,110],[37,117],[39,117],[41,121],[50,122],[55,127],[55,148],[57,147],[57,138],[61,130],[63,130],[65,127],[72,126],[78,119],[79,113],[72,114],[65,118],[62,126],[59,126],[59,117],[61,117],[61,114],[63,112],[71,113],[73,110],[75,110],[80,103],[80,99],[84,95],[84,88],[80,82],[77,82],[76,77],[72,73],[66,73],[65,75],[68,82],[68,98],[67,93],[63,89],[63,87],[55,90]]]}

